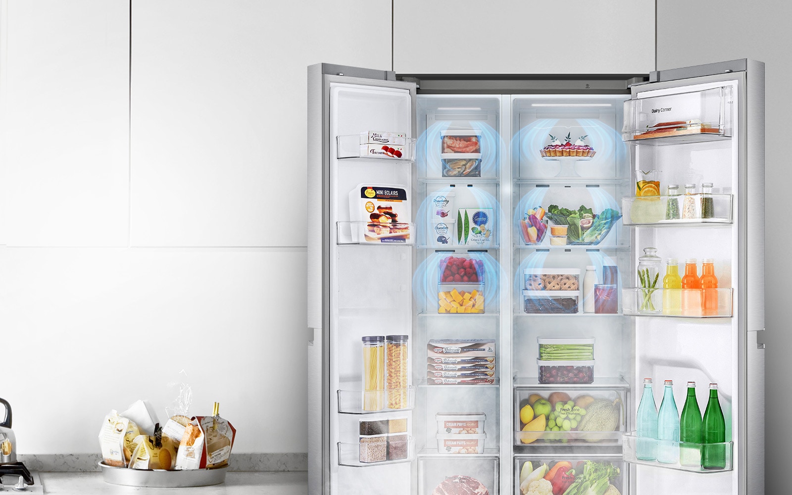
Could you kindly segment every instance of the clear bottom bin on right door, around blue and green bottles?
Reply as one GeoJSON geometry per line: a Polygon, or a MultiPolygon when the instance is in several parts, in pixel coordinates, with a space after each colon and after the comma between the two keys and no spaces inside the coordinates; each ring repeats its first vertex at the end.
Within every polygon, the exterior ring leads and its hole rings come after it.
{"type": "Polygon", "coordinates": [[[719,473],[733,469],[732,456],[734,451],[733,442],[722,442],[718,444],[690,444],[687,442],[672,442],[671,440],[655,440],[638,438],[637,432],[625,433],[623,437],[622,455],[626,463],[643,464],[645,466],[664,467],[666,469],[691,471],[695,473],[719,473]],[[641,442],[653,442],[658,449],[668,448],[680,451],[680,459],[690,459],[690,465],[683,466],[680,463],[658,463],[653,460],[638,459],[638,444],[641,442]],[[705,452],[706,450],[706,452],[705,452]],[[710,459],[717,459],[714,465],[708,468],[702,466],[702,457],[707,455],[710,459]],[[699,463],[695,463],[699,459],[699,463]]]}

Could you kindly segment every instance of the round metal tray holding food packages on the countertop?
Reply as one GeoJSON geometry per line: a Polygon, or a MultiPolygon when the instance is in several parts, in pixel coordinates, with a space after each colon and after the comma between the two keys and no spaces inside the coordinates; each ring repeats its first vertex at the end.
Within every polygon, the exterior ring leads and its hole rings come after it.
{"type": "Polygon", "coordinates": [[[107,466],[99,463],[106,483],[112,485],[181,488],[185,486],[219,485],[226,481],[228,466],[217,469],[145,470],[107,466]]]}

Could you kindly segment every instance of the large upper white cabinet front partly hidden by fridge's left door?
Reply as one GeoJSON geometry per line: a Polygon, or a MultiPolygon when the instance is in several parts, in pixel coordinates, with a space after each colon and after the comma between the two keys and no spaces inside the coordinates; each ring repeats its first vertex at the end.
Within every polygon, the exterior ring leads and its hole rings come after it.
{"type": "Polygon", "coordinates": [[[133,246],[305,246],[307,66],[390,70],[390,2],[133,0],[133,246]]]}

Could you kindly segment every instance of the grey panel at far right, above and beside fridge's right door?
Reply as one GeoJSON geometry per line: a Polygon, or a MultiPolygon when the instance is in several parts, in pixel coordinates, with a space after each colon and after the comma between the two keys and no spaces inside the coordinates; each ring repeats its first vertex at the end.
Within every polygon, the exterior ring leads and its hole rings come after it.
{"type": "Polygon", "coordinates": [[[792,263],[789,250],[792,231],[786,229],[789,210],[789,143],[792,100],[789,19],[792,4],[762,2],[657,2],[657,68],[687,67],[733,59],[756,59],[765,63],[765,325],[766,366],[766,493],[788,493],[786,476],[790,451],[787,427],[792,409],[789,394],[792,333],[789,326],[789,283],[792,263]],[[691,43],[691,38],[702,42],[691,43]],[[704,42],[704,40],[708,40],[704,42]]]}

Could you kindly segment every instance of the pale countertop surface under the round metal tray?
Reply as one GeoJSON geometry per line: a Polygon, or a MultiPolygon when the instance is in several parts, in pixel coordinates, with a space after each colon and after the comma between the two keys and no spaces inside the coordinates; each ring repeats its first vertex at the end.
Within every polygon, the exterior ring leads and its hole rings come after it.
{"type": "MultiPolygon", "coordinates": [[[[198,488],[139,488],[110,485],[101,473],[40,473],[44,493],[63,495],[166,495],[195,493],[196,495],[307,495],[306,471],[230,471],[222,485],[198,488]]],[[[16,493],[16,492],[13,492],[16,493]]]]}

